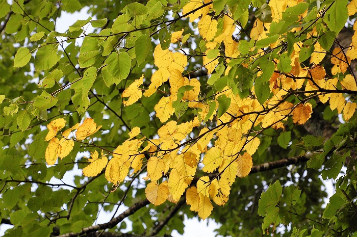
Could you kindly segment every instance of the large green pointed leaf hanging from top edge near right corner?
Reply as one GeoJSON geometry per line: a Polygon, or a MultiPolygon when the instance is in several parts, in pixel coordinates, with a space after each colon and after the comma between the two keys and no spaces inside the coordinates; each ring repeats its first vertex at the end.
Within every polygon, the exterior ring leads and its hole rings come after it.
{"type": "Polygon", "coordinates": [[[347,3],[347,0],[336,0],[327,10],[323,20],[331,31],[339,33],[345,26],[348,18],[347,3]]]}

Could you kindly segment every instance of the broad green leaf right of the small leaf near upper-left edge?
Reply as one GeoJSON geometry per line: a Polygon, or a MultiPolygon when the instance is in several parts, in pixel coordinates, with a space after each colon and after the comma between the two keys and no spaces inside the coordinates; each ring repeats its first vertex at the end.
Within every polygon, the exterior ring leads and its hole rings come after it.
{"type": "Polygon", "coordinates": [[[36,70],[46,70],[56,65],[61,56],[57,54],[56,44],[46,44],[41,46],[35,57],[36,70]]]}

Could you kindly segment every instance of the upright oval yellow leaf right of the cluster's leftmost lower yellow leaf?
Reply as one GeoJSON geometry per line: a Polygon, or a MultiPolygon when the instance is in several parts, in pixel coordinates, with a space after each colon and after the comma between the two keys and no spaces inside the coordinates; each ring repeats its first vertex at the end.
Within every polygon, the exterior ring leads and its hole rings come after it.
{"type": "Polygon", "coordinates": [[[113,183],[114,186],[118,185],[127,175],[129,171],[130,162],[123,161],[119,158],[113,157],[106,168],[106,179],[113,183]]]}

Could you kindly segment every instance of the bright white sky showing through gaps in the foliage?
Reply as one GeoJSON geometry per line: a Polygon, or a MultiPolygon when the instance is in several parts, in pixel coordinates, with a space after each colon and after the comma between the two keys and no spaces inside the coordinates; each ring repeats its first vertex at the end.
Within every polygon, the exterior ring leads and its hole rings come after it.
{"type": "MultiPolygon", "coordinates": [[[[88,7],[85,7],[80,12],[75,12],[73,14],[62,12],[61,17],[59,17],[57,19],[56,31],[63,33],[65,31],[67,31],[68,27],[70,25],[72,25],[75,21],[77,21],[78,19],[81,19],[81,20],[87,19],[90,16],[87,13],[87,11],[88,11],[88,7]]],[[[92,18],[95,19],[95,17],[92,17],[92,18]]],[[[93,31],[93,28],[91,27],[90,24],[88,24],[88,25],[89,25],[89,27],[86,28],[85,30],[87,33],[90,33],[93,31]]],[[[79,42],[77,42],[77,43],[79,43],[79,42]]],[[[79,170],[78,167],[77,167],[77,170],[75,168],[76,167],[74,167],[73,171],[67,172],[65,174],[65,177],[63,178],[64,182],[68,183],[69,185],[73,185],[73,186],[74,186],[73,176],[82,174],[82,170],[79,170]]],[[[51,179],[50,182],[51,183],[61,183],[60,180],[55,179],[55,178],[51,179]]],[[[332,196],[335,193],[334,183],[336,183],[336,182],[332,179],[326,180],[323,182],[326,186],[326,192],[328,194],[328,197],[325,198],[325,200],[324,200],[325,203],[327,203],[330,196],[332,196]]],[[[126,208],[127,207],[121,206],[117,212],[117,215],[122,213],[126,208]]],[[[224,208],[224,206],[220,207],[220,208],[224,208]]],[[[102,224],[102,223],[106,223],[106,222],[110,221],[110,219],[112,218],[112,215],[113,215],[113,212],[107,213],[102,210],[99,213],[99,216],[97,218],[97,220],[99,220],[99,221],[97,221],[96,224],[102,224]]],[[[132,229],[131,224],[130,224],[131,222],[130,221],[125,221],[125,222],[127,224],[126,230],[130,231],[132,229]]],[[[215,223],[213,220],[206,219],[205,221],[202,221],[202,220],[199,220],[198,218],[188,219],[186,216],[185,216],[184,224],[185,224],[185,228],[184,228],[185,233],[183,235],[181,235],[177,231],[173,231],[172,236],[174,236],[174,237],[181,237],[181,236],[182,237],[190,237],[190,236],[214,237],[216,235],[216,232],[214,230],[219,227],[219,225],[217,223],[215,223]]],[[[0,225],[0,236],[3,236],[5,231],[9,228],[12,228],[12,225],[1,224],[0,225]]]]}

